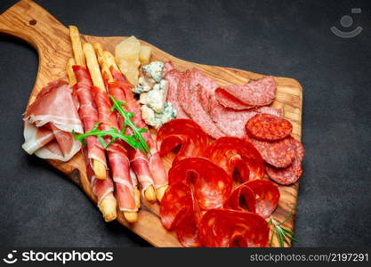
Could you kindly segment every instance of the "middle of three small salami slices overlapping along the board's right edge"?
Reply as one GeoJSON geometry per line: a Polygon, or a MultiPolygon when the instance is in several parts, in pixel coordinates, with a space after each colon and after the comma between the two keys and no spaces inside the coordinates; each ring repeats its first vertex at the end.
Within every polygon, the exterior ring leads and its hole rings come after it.
{"type": "Polygon", "coordinates": [[[289,137],[276,142],[257,141],[248,137],[246,139],[254,144],[264,161],[271,166],[284,168],[294,161],[295,151],[289,137]]]}

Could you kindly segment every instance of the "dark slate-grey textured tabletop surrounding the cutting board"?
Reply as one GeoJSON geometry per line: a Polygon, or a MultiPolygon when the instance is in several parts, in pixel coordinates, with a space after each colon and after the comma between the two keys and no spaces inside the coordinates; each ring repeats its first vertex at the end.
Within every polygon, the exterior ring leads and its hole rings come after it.
{"type": "MultiPolygon", "coordinates": [[[[296,246],[371,246],[370,1],[36,1],[94,36],[135,35],[187,61],[294,77],[303,87],[306,149],[296,246]],[[352,14],[364,28],[335,36],[352,14]]],[[[4,12],[14,1],[0,2],[4,12]]],[[[0,245],[129,247],[148,243],[21,150],[21,114],[37,54],[0,36],[0,245]]]]}

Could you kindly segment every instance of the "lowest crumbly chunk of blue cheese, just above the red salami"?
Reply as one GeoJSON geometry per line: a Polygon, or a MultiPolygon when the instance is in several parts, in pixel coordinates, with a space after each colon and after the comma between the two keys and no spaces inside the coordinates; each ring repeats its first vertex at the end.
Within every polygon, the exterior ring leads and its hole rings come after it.
{"type": "Polygon", "coordinates": [[[157,113],[147,105],[143,105],[141,106],[141,116],[146,124],[158,129],[166,122],[176,118],[176,110],[173,109],[173,105],[169,102],[165,102],[164,111],[161,113],[157,113]]]}

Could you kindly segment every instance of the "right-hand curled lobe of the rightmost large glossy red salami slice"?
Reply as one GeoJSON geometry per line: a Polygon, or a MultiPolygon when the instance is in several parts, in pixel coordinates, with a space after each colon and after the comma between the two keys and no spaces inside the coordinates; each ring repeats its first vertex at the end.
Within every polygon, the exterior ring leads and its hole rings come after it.
{"type": "Polygon", "coordinates": [[[256,196],[256,214],[261,215],[264,219],[269,218],[270,214],[278,206],[280,197],[276,184],[268,180],[259,179],[246,182],[244,185],[254,191],[256,196]]]}

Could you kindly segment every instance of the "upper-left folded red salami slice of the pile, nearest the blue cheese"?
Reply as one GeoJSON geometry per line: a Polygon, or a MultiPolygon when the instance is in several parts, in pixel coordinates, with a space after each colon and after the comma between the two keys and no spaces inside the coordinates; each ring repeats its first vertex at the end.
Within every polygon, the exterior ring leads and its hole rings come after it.
{"type": "Polygon", "coordinates": [[[173,164],[183,158],[202,156],[208,143],[207,134],[191,119],[173,119],[162,125],[157,132],[157,150],[160,156],[181,145],[173,164]]]}

